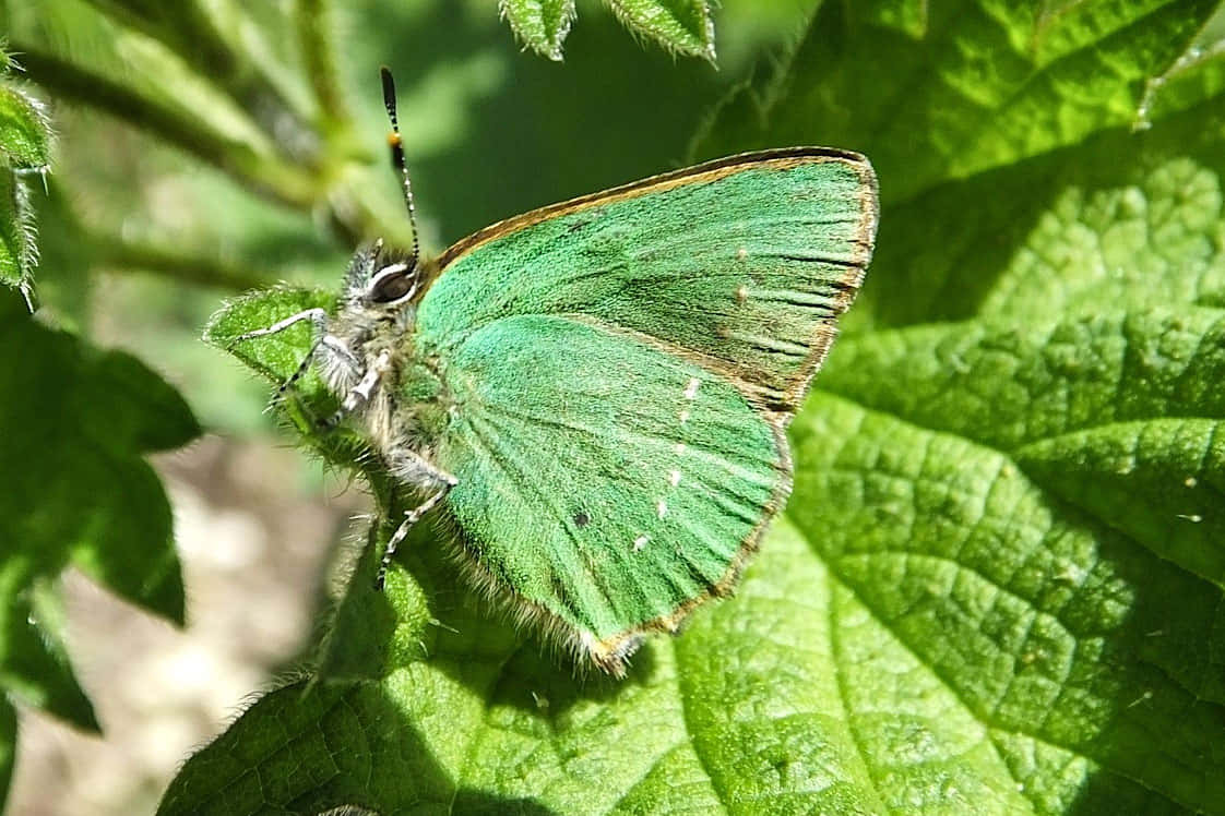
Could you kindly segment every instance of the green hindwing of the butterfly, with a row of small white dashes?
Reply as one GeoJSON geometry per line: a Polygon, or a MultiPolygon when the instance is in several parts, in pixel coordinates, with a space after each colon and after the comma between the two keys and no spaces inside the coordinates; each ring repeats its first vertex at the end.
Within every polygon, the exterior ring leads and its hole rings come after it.
{"type": "Polygon", "coordinates": [[[454,349],[437,462],[470,566],[611,670],[726,590],[785,497],[785,442],[734,387],[594,321],[514,316],[454,349]]]}

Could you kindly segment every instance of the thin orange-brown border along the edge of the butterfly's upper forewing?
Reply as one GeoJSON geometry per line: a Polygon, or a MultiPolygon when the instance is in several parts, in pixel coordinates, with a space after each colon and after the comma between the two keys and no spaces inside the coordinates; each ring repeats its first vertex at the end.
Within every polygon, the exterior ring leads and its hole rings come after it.
{"type": "MultiPolygon", "coordinates": [[[[861,220],[856,229],[858,252],[855,261],[846,267],[846,270],[839,280],[844,296],[838,302],[837,314],[834,316],[834,319],[837,319],[838,316],[846,311],[854,300],[855,294],[859,291],[859,287],[864,281],[864,273],[867,269],[869,261],[871,261],[872,250],[876,242],[876,226],[880,220],[880,196],[876,172],[872,170],[872,165],[867,158],[853,150],[843,150],[831,147],[788,147],[769,150],[755,150],[751,153],[739,153],[736,155],[729,155],[691,168],[682,168],[680,170],[649,176],[620,187],[612,187],[610,190],[589,193],[587,196],[579,196],[578,198],[571,198],[570,201],[549,204],[548,207],[533,209],[528,213],[523,213],[522,215],[507,218],[478,230],[466,239],[461,239],[443,251],[442,254],[439,256],[439,258],[426,269],[428,281],[418,294],[418,299],[425,296],[430,285],[451,263],[472,252],[477,247],[496,240],[502,235],[507,235],[508,232],[540,224],[541,221],[559,215],[568,215],[570,213],[582,210],[587,207],[601,206],[625,198],[635,198],[649,192],[660,192],[686,184],[715,181],[720,177],[734,175],[739,170],[750,165],[769,164],[778,169],[785,169],[788,166],[816,161],[845,163],[855,168],[862,180],[862,185],[860,187],[861,220]]],[[[775,400],[769,400],[769,402],[766,404],[761,400],[760,395],[746,393],[746,396],[748,396],[762,410],[769,414],[780,414],[789,418],[790,415],[797,410],[800,401],[804,399],[804,394],[809,389],[809,382],[821,368],[821,363],[824,362],[826,355],[828,354],[829,346],[833,344],[835,335],[837,328],[833,319],[831,319],[828,323],[818,324],[813,335],[806,338],[812,351],[800,365],[795,376],[786,380],[784,398],[782,400],[775,401],[775,400]]]]}

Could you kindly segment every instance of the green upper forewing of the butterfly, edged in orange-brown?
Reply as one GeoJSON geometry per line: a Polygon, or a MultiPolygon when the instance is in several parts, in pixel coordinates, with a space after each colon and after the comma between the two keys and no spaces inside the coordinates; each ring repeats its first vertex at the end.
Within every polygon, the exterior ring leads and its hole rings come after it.
{"type": "Polygon", "coordinates": [[[420,303],[446,354],[512,314],[583,314],[702,360],[794,412],[862,281],[877,195],[861,155],[748,153],[521,215],[451,247],[420,303]]]}

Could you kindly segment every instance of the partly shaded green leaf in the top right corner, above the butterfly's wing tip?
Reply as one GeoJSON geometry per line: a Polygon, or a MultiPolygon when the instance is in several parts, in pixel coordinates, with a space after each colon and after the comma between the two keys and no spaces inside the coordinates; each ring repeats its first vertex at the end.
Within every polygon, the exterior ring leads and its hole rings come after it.
{"type": "MultiPolygon", "coordinates": [[[[1150,81],[1198,48],[1216,7],[1216,0],[832,0],[786,71],[730,100],[696,153],[854,146],[886,180],[882,202],[907,201],[1101,130],[1160,122],[1171,106],[1150,98],[1150,81]],[[768,106],[767,126],[744,115],[753,103],[768,106]]],[[[1199,84],[1181,104],[1219,92],[1199,84]]]]}

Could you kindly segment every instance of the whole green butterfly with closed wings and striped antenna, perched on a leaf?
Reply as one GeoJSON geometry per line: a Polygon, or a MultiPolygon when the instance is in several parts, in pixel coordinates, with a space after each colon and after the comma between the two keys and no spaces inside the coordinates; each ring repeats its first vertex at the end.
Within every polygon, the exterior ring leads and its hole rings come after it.
{"type": "MultiPolygon", "coordinates": [[[[392,158],[413,198],[383,72],[392,158]]],[[[353,258],[311,366],[382,465],[441,505],[470,584],[621,675],[729,595],[791,486],[785,429],[872,254],[876,177],[746,153],[501,221],[424,261],[353,258]]],[[[415,230],[414,230],[415,232],[415,230]]],[[[380,580],[382,571],[380,571],[380,580]]]]}

